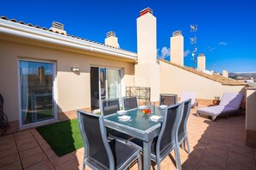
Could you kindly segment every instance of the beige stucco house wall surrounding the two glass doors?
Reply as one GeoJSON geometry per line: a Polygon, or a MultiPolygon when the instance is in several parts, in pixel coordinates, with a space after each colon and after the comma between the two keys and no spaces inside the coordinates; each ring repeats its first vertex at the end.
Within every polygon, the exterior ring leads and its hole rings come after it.
{"type": "Polygon", "coordinates": [[[56,63],[56,103],[59,112],[91,106],[91,66],[121,68],[123,70],[122,95],[125,95],[124,87],[134,86],[134,63],[0,40],[0,93],[4,97],[4,112],[8,115],[9,121],[19,118],[19,58],[48,60],[56,63]],[[78,67],[80,73],[73,73],[72,66],[78,67]]]}

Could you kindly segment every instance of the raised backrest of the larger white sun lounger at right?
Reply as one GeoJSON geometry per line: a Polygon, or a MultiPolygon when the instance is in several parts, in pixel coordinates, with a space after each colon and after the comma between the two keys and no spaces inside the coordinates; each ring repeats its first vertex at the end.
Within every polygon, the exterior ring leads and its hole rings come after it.
{"type": "Polygon", "coordinates": [[[219,105],[229,106],[235,109],[239,109],[243,98],[244,98],[243,94],[240,94],[240,93],[224,93],[219,105]]]}

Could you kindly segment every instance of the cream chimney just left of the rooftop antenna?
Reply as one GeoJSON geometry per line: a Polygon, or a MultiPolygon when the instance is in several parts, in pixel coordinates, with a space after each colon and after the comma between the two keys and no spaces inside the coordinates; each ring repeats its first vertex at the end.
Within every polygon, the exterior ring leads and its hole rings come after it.
{"type": "Polygon", "coordinates": [[[171,37],[171,62],[184,66],[184,37],[181,31],[175,31],[171,37]]]}

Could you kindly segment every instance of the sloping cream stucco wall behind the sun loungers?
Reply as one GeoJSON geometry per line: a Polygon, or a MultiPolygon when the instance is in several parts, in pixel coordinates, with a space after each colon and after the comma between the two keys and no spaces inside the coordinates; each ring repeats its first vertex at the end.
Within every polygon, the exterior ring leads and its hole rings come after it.
{"type": "Polygon", "coordinates": [[[194,91],[197,99],[204,100],[214,100],[215,96],[222,98],[225,92],[240,92],[246,96],[244,86],[222,85],[220,82],[162,61],[160,61],[160,86],[160,93],[178,94],[180,97],[183,91],[194,91]]]}

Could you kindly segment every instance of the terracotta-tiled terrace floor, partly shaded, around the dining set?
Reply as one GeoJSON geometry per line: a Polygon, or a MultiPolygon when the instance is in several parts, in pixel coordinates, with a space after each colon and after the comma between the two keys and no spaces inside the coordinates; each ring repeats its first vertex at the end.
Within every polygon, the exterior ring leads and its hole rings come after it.
{"type": "MultiPolygon", "coordinates": [[[[181,150],[183,169],[256,169],[256,149],[245,145],[244,114],[213,122],[191,110],[188,131],[191,153],[181,150]]],[[[0,170],[82,169],[83,155],[84,149],[78,149],[58,157],[35,129],[0,137],[0,170]]],[[[176,169],[174,159],[172,152],[161,169],[176,169]]]]}

